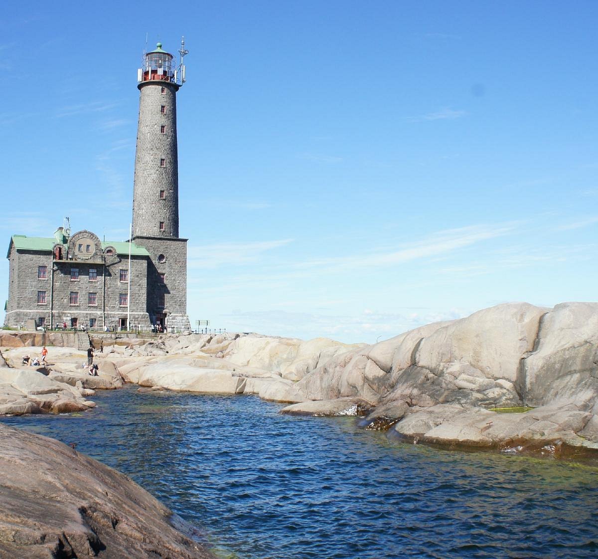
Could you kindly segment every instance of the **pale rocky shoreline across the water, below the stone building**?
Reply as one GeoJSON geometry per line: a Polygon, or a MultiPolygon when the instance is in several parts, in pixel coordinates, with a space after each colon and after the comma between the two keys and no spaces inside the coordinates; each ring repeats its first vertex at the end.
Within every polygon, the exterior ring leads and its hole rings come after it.
{"type": "Polygon", "coordinates": [[[256,394],[289,403],[287,414],[361,415],[364,427],[413,442],[598,449],[598,303],[508,303],[373,345],[257,334],[105,339],[98,377],[65,347],[51,348],[47,376],[23,370],[34,350],[25,344],[38,336],[0,335],[0,413],[85,411],[93,390],[133,382],[256,394]],[[532,409],[495,411],[518,406],[532,409]]]}

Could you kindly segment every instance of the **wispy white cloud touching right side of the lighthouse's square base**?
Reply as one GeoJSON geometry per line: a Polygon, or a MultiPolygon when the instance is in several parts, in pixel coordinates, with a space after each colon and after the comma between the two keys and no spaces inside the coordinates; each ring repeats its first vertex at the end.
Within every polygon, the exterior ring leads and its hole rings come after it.
{"type": "Polygon", "coordinates": [[[264,253],[288,245],[293,239],[257,242],[223,242],[189,247],[188,268],[210,269],[219,266],[240,266],[255,263],[264,253]]]}

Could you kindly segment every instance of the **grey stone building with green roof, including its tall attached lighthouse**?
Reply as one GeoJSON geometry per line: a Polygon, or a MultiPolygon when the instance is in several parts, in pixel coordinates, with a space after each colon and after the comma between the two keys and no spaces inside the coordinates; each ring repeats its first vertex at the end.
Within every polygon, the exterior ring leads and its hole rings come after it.
{"type": "Polygon", "coordinates": [[[157,44],[138,70],[139,122],[132,242],[100,242],[59,227],[53,237],[13,235],[5,326],[190,329],[187,239],[179,238],[176,92],[181,64],[157,44]],[[130,257],[129,257],[130,254],[130,257]]]}

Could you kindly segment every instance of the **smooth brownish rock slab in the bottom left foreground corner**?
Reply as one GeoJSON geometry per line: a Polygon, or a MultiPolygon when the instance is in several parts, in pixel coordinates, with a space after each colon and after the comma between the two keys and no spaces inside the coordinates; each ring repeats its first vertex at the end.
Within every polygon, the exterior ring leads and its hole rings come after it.
{"type": "Polygon", "coordinates": [[[207,559],[127,476],[54,439],[0,424],[0,557],[207,559]]]}

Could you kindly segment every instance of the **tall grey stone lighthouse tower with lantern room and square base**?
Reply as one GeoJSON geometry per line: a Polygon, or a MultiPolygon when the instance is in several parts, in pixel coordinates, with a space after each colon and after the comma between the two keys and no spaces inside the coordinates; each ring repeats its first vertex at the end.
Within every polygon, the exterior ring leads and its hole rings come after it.
{"type": "Polygon", "coordinates": [[[139,122],[133,183],[133,241],[150,255],[147,311],[154,324],[189,329],[187,239],[179,238],[176,92],[185,82],[181,62],[162,50],[144,54],[138,70],[139,122]]]}

